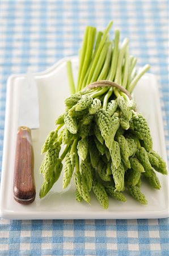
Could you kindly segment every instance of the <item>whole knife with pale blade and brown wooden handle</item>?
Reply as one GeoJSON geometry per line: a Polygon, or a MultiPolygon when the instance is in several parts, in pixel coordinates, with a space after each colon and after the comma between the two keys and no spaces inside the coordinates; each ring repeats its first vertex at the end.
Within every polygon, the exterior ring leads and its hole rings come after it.
{"type": "Polygon", "coordinates": [[[31,204],[36,196],[31,129],[39,128],[39,98],[35,79],[29,69],[20,95],[13,196],[20,204],[31,204]]]}

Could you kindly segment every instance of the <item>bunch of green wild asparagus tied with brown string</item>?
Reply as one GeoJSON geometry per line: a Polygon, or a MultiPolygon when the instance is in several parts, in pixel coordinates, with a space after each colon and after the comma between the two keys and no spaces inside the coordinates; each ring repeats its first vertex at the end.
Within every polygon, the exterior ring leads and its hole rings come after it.
{"type": "Polygon", "coordinates": [[[56,119],[43,147],[40,173],[44,182],[40,198],[47,195],[64,169],[63,188],[73,177],[77,201],[91,201],[91,191],[104,209],[108,196],[126,201],[129,192],[147,204],[140,190],[142,178],[160,189],[155,172],[167,174],[166,163],[153,150],[149,126],[136,112],[131,93],[141,76],[150,68],[136,69],[136,57],[129,55],[129,40],[119,43],[120,32],[109,39],[112,22],[104,32],[86,27],[79,51],[78,81],[75,88],[71,62],[67,75],[71,96],[65,112],[56,119]],[[61,144],[64,150],[60,155],[61,144]],[[64,168],[62,161],[64,160],[64,168]]]}

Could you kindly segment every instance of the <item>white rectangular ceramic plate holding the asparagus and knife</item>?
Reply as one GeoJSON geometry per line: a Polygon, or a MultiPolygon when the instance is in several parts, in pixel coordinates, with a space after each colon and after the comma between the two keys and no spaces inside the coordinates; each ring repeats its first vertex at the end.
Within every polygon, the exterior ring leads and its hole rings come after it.
{"type": "MultiPolygon", "coordinates": [[[[75,200],[75,187],[71,183],[63,191],[62,175],[44,199],[39,199],[39,190],[43,182],[39,167],[43,155],[43,145],[50,130],[55,128],[55,119],[64,112],[64,100],[69,96],[69,85],[66,75],[66,60],[63,59],[45,72],[37,73],[35,79],[39,90],[40,129],[32,131],[35,154],[36,199],[30,205],[16,203],[12,196],[14,175],[15,143],[18,129],[18,110],[20,86],[23,75],[11,76],[7,82],[6,121],[3,147],[1,177],[1,217],[19,220],[31,219],[131,219],[131,218],[164,218],[168,217],[168,176],[157,174],[162,188],[157,191],[148,184],[142,184],[148,205],[144,206],[127,193],[126,203],[109,198],[109,207],[102,209],[94,196],[91,205],[75,200]]],[[[77,80],[78,59],[71,57],[75,81],[77,80]]],[[[154,150],[166,160],[166,147],[162,126],[162,114],[158,98],[157,81],[154,75],[142,77],[134,92],[137,110],[147,119],[154,142],[154,150]]]]}

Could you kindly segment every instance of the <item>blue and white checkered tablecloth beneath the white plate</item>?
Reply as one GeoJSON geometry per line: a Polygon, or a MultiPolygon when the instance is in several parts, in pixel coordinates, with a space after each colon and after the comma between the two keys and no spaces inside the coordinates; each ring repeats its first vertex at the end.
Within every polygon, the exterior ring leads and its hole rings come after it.
{"type": "MultiPolygon", "coordinates": [[[[151,65],[160,83],[166,150],[168,117],[168,1],[0,2],[0,161],[6,81],[12,73],[39,72],[77,55],[84,28],[113,20],[130,39],[138,64],[151,65]]],[[[168,218],[150,220],[4,220],[0,255],[169,255],[168,218]]]]}

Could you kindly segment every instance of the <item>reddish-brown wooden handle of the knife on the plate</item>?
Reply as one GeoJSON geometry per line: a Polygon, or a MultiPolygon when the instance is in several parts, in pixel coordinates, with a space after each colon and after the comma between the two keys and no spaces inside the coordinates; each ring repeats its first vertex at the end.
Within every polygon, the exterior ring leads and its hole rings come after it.
{"type": "Polygon", "coordinates": [[[31,204],[35,200],[34,158],[31,130],[26,126],[18,128],[15,152],[13,194],[20,204],[31,204]]]}

